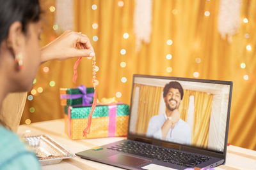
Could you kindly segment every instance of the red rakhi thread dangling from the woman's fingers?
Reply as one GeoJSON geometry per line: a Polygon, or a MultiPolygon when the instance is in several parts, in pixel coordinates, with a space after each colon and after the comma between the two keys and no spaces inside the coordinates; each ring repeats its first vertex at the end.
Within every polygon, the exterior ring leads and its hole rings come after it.
{"type": "MultiPolygon", "coordinates": [[[[79,49],[81,49],[81,46],[79,45],[79,43],[77,43],[77,47],[79,49]]],[[[76,61],[75,65],[74,65],[74,74],[73,74],[73,82],[76,83],[76,79],[77,79],[77,66],[79,64],[79,62],[81,61],[82,57],[79,57],[79,59],[76,61]]],[[[91,113],[88,115],[88,122],[87,125],[85,127],[85,129],[83,130],[83,136],[85,136],[85,138],[87,137],[87,134],[90,134],[90,127],[91,127],[91,123],[92,123],[92,114],[93,111],[97,105],[97,90],[96,90],[96,57],[93,56],[92,59],[92,83],[93,83],[93,89],[94,89],[94,94],[93,94],[93,103],[92,103],[92,109],[91,109],[91,113]]]]}

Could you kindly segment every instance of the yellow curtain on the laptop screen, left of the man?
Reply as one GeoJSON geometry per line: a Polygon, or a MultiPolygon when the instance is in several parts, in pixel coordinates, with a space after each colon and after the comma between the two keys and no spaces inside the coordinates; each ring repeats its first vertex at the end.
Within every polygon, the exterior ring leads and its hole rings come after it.
{"type": "Polygon", "coordinates": [[[139,84],[136,84],[135,87],[140,87],[136,131],[146,134],[150,118],[154,115],[158,115],[163,87],[139,84]],[[139,122],[140,124],[138,124],[139,122]]]}

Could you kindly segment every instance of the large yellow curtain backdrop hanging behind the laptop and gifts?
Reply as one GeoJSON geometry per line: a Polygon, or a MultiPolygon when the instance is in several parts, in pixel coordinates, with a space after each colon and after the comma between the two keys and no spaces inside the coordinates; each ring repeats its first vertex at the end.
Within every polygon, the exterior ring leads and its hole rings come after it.
{"type": "MultiPolygon", "coordinates": [[[[134,73],[193,78],[196,71],[198,78],[234,81],[228,143],[256,150],[256,1],[243,1],[239,32],[232,37],[232,43],[228,43],[217,29],[220,1],[154,0],[151,41],[143,43],[139,52],[135,51],[134,1],[125,0],[122,7],[118,6],[118,1],[74,0],[75,31],[83,32],[90,39],[99,38],[92,41],[99,66],[99,98],[121,92],[118,100],[129,104],[134,73]],[[92,10],[93,4],[97,5],[97,10],[92,10]],[[210,12],[209,17],[204,15],[205,11],[210,12]],[[245,17],[248,23],[243,22],[245,17]],[[99,27],[92,29],[93,23],[99,27]],[[129,33],[128,39],[123,38],[125,32],[129,33]],[[244,37],[246,33],[249,38],[244,37]],[[172,45],[166,44],[168,39],[172,39],[172,45]],[[247,45],[252,49],[246,50],[247,45]],[[126,50],[125,55],[120,54],[122,49],[126,50]],[[168,53],[172,54],[170,60],[166,59],[168,53]],[[200,62],[195,61],[197,58],[200,62]],[[125,62],[126,66],[120,67],[120,62],[125,62]],[[242,62],[246,64],[244,69],[240,67],[242,62]],[[167,67],[172,67],[172,72],[166,71],[167,67]],[[248,74],[249,80],[243,79],[244,74],[248,74]],[[122,77],[127,78],[125,83],[122,77]]],[[[54,1],[42,1],[45,9],[42,45],[56,36],[52,30],[51,5],[54,6],[54,1]]],[[[36,94],[33,101],[27,101],[22,124],[28,118],[37,122],[63,117],[60,87],[92,86],[92,60],[88,59],[81,61],[77,83],[72,83],[75,61],[46,62],[38,69],[33,88],[43,87],[44,92],[36,94]],[[44,66],[49,67],[49,73],[42,71],[44,66]],[[50,87],[50,81],[55,81],[56,85],[50,87]],[[35,108],[33,113],[29,111],[32,107],[35,108]]]]}

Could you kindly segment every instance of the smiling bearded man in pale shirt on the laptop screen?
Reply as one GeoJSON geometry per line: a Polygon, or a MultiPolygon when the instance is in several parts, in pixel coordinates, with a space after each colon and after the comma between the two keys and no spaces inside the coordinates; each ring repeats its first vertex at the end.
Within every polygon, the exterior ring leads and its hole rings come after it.
{"type": "Polygon", "coordinates": [[[178,111],[183,94],[183,88],[177,81],[171,81],[164,86],[166,111],[150,118],[147,136],[190,145],[191,129],[188,123],[180,118],[178,111]]]}

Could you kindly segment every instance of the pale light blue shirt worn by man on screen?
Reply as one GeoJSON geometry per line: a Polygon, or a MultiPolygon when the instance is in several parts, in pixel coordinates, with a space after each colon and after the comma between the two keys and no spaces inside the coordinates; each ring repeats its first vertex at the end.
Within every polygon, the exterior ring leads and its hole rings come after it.
{"type": "Polygon", "coordinates": [[[164,139],[161,130],[164,122],[166,122],[165,113],[150,118],[150,121],[148,123],[147,136],[185,145],[191,144],[191,128],[188,123],[184,122],[184,120],[180,118],[180,120],[174,125],[173,129],[169,129],[168,134],[164,139]]]}

